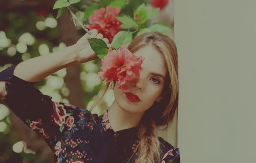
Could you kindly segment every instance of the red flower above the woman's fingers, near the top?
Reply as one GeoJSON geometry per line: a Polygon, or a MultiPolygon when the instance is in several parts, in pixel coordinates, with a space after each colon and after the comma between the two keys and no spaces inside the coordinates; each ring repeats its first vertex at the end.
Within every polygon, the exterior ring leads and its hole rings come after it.
{"type": "Polygon", "coordinates": [[[107,38],[111,43],[113,37],[119,32],[120,25],[122,24],[116,18],[120,12],[120,8],[116,9],[112,6],[107,6],[106,8],[101,7],[95,10],[89,17],[90,24],[87,24],[88,29],[96,29],[98,33],[101,33],[104,38],[107,38]]]}

